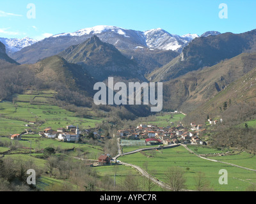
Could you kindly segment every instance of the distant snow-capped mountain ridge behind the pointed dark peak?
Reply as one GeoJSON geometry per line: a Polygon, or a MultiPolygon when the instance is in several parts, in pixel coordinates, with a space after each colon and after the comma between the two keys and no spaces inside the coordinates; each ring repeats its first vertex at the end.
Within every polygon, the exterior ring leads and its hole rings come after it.
{"type": "Polygon", "coordinates": [[[72,45],[83,43],[88,38],[92,38],[93,35],[99,37],[103,42],[114,45],[118,50],[136,50],[138,48],[179,50],[188,45],[189,41],[198,37],[197,34],[178,36],[170,34],[163,29],[152,29],[143,32],[115,26],[98,25],[81,29],[75,33],[56,34],[10,54],[10,57],[20,64],[33,64],[45,57],[56,55],[72,45]]]}

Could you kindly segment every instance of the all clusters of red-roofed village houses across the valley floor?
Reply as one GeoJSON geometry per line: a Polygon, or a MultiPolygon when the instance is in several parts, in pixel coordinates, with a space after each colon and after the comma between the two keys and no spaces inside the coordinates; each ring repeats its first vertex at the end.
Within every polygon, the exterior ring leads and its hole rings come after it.
{"type": "MultiPolygon", "coordinates": [[[[218,124],[218,120],[208,119],[211,126],[218,124]]],[[[222,119],[220,119],[222,122],[222,119]]],[[[29,127],[26,125],[26,127],[29,127]]],[[[186,128],[182,124],[177,126],[158,127],[156,125],[140,124],[136,128],[120,129],[117,131],[113,138],[120,138],[120,141],[129,142],[134,145],[134,142],[140,142],[140,145],[172,145],[172,144],[195,144],[195,145],[207,145],[207,141],[202,140],[202,136],[205,133],[205,125],[195,124],[191,122],[190,127],[186,128]]],[[[31,129],[25,129],[24,134],[34,134],[31,129]]],[[[45,128],[40,131],[38,135],[42,138],[51,138],[60,142],[79,142],[81,136],[86,133],[93,133],[93,136],[97,140],[106,138],[106,136],[100,135],[96,130],[79,130],[78,126],[69,125],[65,128],[58,128],[53,130],[51,127],[45,128]]],[[[22,134],[12,135],[11,140],[22,140],[22,134]]],[[[122,143],[120,144],[122,145],[122,143]]],[[[138,145],[138,144],[137,144],[138,145]]],[[[116,161],[115,161],[116,163],[116,161]]],[[[108,154],[102,154],[97,163],[89,164],[90,166],[102,166],[114,164],[113,159],[108,154]]]]}

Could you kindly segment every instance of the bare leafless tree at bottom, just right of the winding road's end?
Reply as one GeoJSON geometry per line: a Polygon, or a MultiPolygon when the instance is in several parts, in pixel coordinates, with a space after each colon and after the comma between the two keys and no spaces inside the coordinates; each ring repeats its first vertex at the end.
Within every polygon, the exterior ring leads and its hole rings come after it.
{"type": "Polygon", "coordinates": [[[186,179],[184,178],[184,170],[177,166],[173,166],[166,172],[168,184],[170,185],[171,191],[180,191],[185,187],[186,179]]]}

